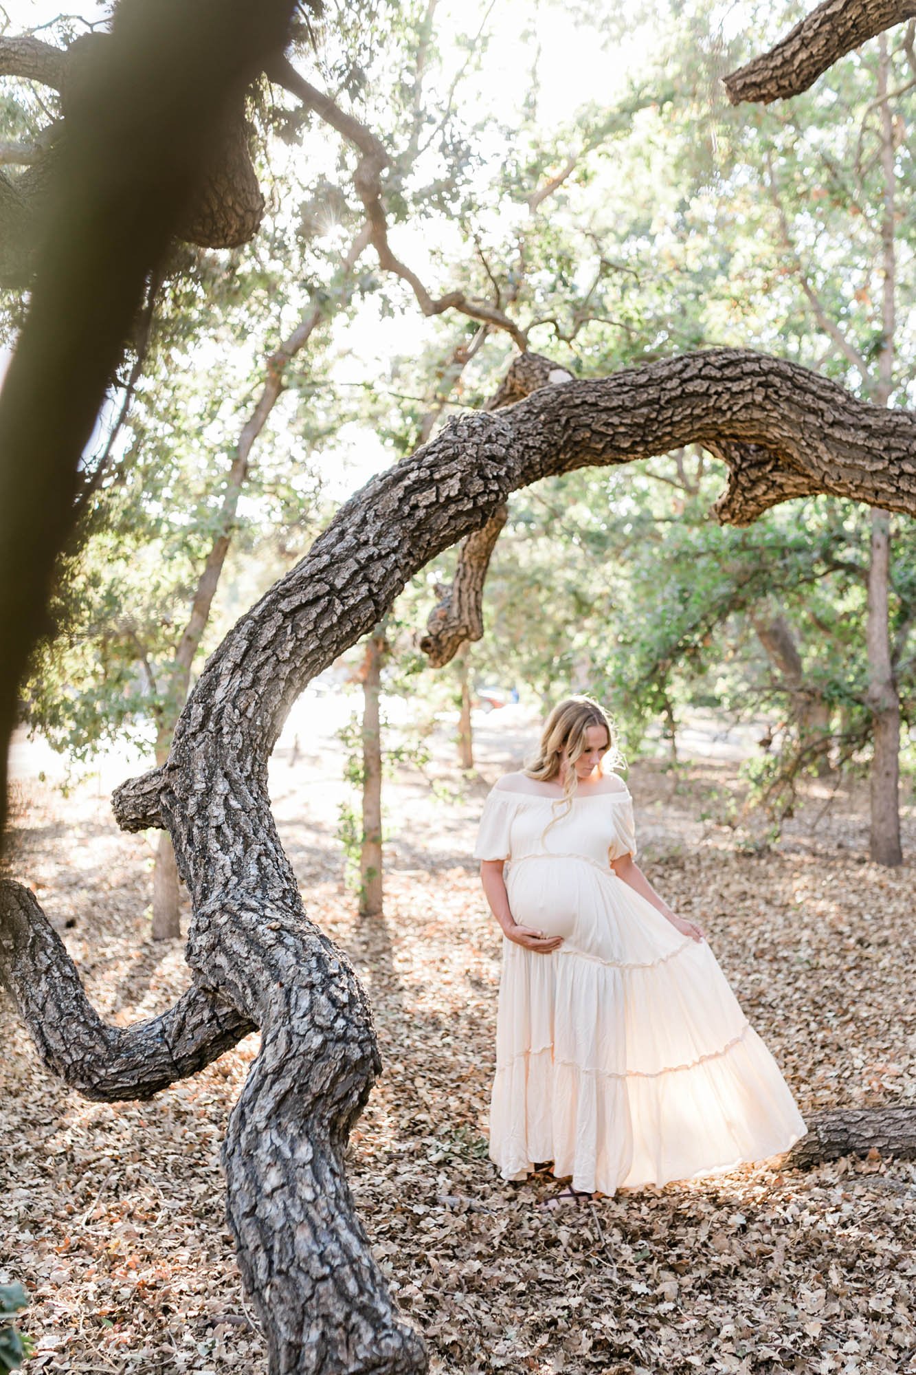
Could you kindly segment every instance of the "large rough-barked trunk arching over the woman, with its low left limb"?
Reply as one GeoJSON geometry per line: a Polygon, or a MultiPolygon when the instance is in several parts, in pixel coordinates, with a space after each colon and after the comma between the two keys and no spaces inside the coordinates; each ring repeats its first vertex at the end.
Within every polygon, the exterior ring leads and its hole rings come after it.
{"type": "MultiPolygon", "coordinates": [[[[272,1375],[425,1368],[347,1185],[348,1134],[381,1066],[366,996],[345,954],[308,920],[271,815],[267,767],[289,708],[419,568],[481,528],[510,492],[692,443],[726,456],[718,512],[733,521],[752,521],[799,488],[916,512],[916,417],[861,403],[789,362],[711,349],[545,386],[450,422],[356,492],[210,656],[168,763],[114,795],[121,826],[172,835],[193,903],[188,997],[206,1022],[204,1053],[227,1034],[224,1008],[231,1034],[252,1023],[261,1031],[223,1163],[272,1375]]],[[[109,1038],[132,1045],[140,1028],[98,1030],[63,947],[15,884],[1,890],[0,930],[4,982],[51,1068],[61,1071],[62,1055],[66,1067],[69,1045],[95,1037],[92,1081],[103,1081],[109,1038]],[[50,1027],[63,1050],[48,1045],[50,1027]]],[[[180,1006],[161,1024],[173,1026],[180,1006]]],[[[131,1079],[149,1090],[143,1055],[118,1075],[120,1096],[131,1079]]]]}

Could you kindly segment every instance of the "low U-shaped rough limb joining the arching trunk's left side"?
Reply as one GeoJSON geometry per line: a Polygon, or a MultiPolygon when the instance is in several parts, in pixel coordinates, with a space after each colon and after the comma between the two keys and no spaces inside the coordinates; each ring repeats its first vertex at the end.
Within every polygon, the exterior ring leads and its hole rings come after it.
{"type": "Polygon", "coordinates": [[[197,984],[173,1008],[131,1027],[106,1026],[73,960],[29,888],[0,881],[0,983],[41,1059],[87,1099],[149,1099],[197,1074],[256,1026],[197,984]]]}

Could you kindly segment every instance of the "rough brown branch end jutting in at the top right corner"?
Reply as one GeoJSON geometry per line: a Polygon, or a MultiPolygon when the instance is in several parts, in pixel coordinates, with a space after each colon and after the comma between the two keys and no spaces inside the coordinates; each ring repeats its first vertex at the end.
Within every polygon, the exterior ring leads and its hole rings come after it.
{"type": "Polygon", "coordinates": [[[732,104],[787,100],[807,91],[868,38],[916,16],[916,0],[824,0],[784,38],[722,78],[732,104]]]}

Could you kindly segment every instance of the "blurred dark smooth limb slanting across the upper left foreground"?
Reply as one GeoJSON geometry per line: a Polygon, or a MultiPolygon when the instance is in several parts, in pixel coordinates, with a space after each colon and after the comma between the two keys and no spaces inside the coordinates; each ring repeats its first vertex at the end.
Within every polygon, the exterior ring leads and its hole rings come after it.
{"type": "MultiPolygon", "coordinates": [[[[0,393],[0,835],[17,693],[47,630],[80,456],[147,276],[212,169],[228,113],[283,50],[294,7],[124,0],[92,80],[70,91],[66,148],[33,230],[29,314],[0,393]]],[[[21,62],[43,47],[33,40],[21,62]]],[[[0,239],[4,216],[0,195],[0,239]]]]}

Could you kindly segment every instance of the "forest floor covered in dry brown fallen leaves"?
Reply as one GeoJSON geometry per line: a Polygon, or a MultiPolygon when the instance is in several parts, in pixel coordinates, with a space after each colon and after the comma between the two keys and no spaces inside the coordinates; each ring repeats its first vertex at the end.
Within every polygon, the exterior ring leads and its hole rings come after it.
{"type": "MultiPolygon", "coordinates": [[[[278,747],[271,793],[308,910],[369,989],[384,1072],[351,1138],[358,1204],[433,1372],[916,1372],[916,1165],[810,1173],[778,1160],[543,1216],[550,1178],[487,1158],[499,932],[470,859],[487,789],[535,727],[477,720],[476,777],[450,732],[386,784],[385,918],[360,921],[336,836],[341,748],[278,747]]],[[[725,751],[728,754],[728,751],[725,751]]],[[[23,756],[25,758],[25,756],[23,756]]],[[[154,836],[121,835],[98,784],[17,785],[15,876],[61,930],[100,1013],[165,1008],[179,940],[150,939],[154,836]]],[[[109,780],[111,781],[111,780],[109,780]]],[[[113,781],[118,781],[114,778],[113,781]]],[[[769,854],[736,850],[736,766],[637,763],[641,864],[704,925],[803,1115],[916,1101],[913,862],[866,852],[865,799],[814,785],[769,854]]],[[[906,808],[905,851],[916,855],[906,808]]],[[[257,1053],[242,1041],[142,1104],[83,1101],[0,1008],[0,1282],[21,1280],[29,1371],[265,1371],[223,1213],[219,1147],[257,1053]]]]}

